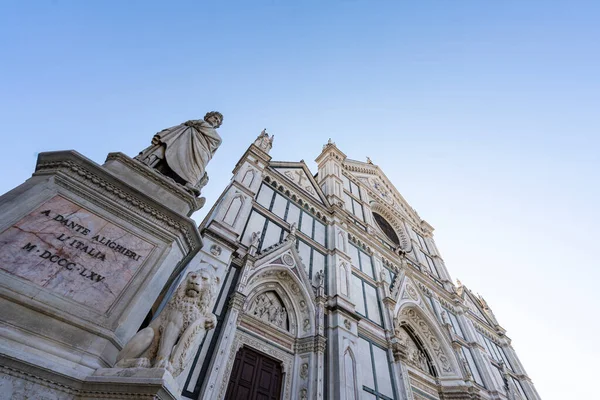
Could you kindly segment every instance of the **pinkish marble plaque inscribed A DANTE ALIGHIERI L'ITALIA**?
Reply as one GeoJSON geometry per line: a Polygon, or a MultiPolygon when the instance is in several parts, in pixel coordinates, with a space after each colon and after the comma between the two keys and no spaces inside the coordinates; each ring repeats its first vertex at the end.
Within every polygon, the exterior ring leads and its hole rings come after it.
{"type": "Polygon", "coordinates": [[[104,313],[154,247],[55,196],[0,233],[0,269],[104,313]]]}

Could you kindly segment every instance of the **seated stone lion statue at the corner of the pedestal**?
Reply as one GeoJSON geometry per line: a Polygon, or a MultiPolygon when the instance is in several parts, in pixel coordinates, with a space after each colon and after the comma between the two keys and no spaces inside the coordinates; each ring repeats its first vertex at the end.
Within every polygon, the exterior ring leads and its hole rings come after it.
{"type": "Polygon", "coordinates": [[[165,308],[117,355],[115,367],[166,368],[177,377],[217,322],[210,312],[219,278],[214,267],[190,271],[165,308]]]}

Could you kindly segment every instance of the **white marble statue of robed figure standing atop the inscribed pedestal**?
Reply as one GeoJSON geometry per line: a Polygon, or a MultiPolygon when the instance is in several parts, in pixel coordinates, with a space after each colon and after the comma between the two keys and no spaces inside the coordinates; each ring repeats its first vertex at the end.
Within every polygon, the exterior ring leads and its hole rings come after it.
{"type": "Polygon", "coordinates": [[[206,165],[221,144],[217,128],[223,115],[212,111],[204,120],[190,120],[158,132],[135,159],[155,168],[199,195],[207,180],[206,165]]]}

